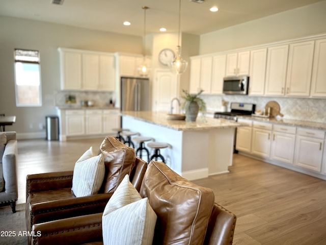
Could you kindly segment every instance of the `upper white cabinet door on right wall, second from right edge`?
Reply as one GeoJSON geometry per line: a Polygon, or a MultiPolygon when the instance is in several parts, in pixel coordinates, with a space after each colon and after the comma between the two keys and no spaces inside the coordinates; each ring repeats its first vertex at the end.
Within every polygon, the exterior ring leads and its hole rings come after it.
{"type": "Polygon", "coordinates": [[[286,78],[286,95],[309,96],[315,41],[292,43],[286,78]]]}

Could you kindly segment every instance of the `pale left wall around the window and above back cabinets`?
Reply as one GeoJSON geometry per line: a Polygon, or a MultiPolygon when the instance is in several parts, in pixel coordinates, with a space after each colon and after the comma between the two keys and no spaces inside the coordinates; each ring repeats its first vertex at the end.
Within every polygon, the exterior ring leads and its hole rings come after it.
{"type": "Polygon", "coordinates": [[[16,123],[6,130],[16,131],[21,138],[45,135],[40,124],[45,124],[46,115],[56,113],[53,92],[60,89],[58,47],[142,54],[142,37],[28,19],[0,16],[0,33],[0,113],[16,115],[16,123]],[[40,51],[42,107],[16,107],[14,48],[40,51]]]}

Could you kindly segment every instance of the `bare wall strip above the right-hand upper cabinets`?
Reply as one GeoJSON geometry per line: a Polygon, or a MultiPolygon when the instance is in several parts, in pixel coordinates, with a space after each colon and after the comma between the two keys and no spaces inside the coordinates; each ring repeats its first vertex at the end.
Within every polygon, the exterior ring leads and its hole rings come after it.
{"type": "Polygon", "coordinates": [[[326,33],[326,1],[200,36],[200,55],[326,33]]]}

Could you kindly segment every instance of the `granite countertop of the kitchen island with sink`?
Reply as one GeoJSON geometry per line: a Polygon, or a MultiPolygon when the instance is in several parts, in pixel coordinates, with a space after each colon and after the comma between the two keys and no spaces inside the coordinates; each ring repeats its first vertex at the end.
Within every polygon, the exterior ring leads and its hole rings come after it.
{"type": "Polygon", "coordinates": [[[198,116],[196,121],[168,120],[167,113],[154,111],[122,111],[121,115],[177,131],[210,130],[242,126],[239,122],[202,116],[198,116]]]}

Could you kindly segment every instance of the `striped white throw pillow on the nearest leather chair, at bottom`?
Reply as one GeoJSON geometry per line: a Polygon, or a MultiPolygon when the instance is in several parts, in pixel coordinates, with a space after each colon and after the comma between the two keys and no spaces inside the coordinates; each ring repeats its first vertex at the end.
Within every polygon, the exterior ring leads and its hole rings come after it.
{"type": "Polygon", "coordinates": [[[152,244],[157,216],[126,175],[102,216],[104,245],[152,244]]]}

